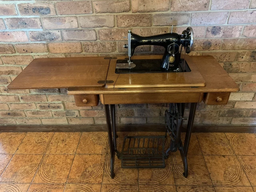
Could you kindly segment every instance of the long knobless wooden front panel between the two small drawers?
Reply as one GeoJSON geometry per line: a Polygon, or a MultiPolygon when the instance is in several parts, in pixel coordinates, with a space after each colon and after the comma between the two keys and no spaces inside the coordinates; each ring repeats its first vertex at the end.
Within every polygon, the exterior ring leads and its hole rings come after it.
{"type": "Polygon", "coordinates": [[[100,101],[102,104],[197,103],[202,96],[202,93],[104,94],[100,101]]]}

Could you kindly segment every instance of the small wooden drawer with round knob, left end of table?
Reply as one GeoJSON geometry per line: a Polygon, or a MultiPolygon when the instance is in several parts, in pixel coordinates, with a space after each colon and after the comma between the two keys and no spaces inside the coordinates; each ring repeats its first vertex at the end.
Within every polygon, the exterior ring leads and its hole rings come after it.
{"type": "Polygon", "coordinates": [[[97,106],[99,95],[74,95],[76,106],[97,106]]]}

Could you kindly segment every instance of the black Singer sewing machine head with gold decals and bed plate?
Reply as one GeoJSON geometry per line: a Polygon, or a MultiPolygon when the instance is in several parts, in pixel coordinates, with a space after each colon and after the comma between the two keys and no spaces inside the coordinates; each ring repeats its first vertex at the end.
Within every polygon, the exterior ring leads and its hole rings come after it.
{"type": "MultiPolygon", "coordinates": [[[[182,32],[181,35],[177,33],[173,33],[172,31],[167,34],[160,34],[155,36],[142,37],[136,34],[133,34],[130,30],[128,31],[128,44],[124,45],[124,48],[128,49],[128,66],[130,73],[136,72],[186,72],[189,70],[188,66],[181,64],[181,51],[182,46],[185,49],[186,53],[190,53],[193,46],[193,30],[191,27],[188,27],[186,30],[182,32]],[[134,54],[134,50],[137,46],[142,45],[157,45],[163,46],[165,48],[164,55],[161,61],[152,61],[152,64],[148,68],[149,70],[142,70],[142,66],[149,65],[148,61],[143,62],[143,60],[134,60],[131,61],[131,57],[134,54]],[[147,63],[146,63],[147,62],[147,63]],[[160,62],[160,63],[159,63],[160,62]],[[132,64],[132,65],[131,65],[132,64]],[[154,66],[153,66],[154,65],[154,66]],[[141,70],[139,70],[141,69],[141,70]]],[[[118,65],[120,66],[120,64],[118,65]]],[[[122,64],[121,68],[124,68],[124,64],[122,64]]],[[[118,70],[119,73],[128,72],[127,70],[118,70]]]]}

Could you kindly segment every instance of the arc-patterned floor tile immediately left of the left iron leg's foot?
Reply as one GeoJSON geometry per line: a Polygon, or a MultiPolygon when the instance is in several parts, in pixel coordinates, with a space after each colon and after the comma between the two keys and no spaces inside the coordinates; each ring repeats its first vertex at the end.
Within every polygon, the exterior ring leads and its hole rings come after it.
{"type": "Polygon", "coordinates": [[[94,183],[102,182],[104,162],[106,155],[79,154],[74,158],[68,177],[69,183],[94,183]]]}

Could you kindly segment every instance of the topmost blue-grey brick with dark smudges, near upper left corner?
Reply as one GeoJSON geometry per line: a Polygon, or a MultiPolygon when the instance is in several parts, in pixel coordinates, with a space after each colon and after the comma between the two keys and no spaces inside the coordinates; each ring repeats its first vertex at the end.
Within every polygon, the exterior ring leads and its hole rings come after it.
{"type": "Polygon", "coordinates": [[[54,4],[51,3],[22,3],[18,4],[20,15],[56,15],[54,4]]]}

